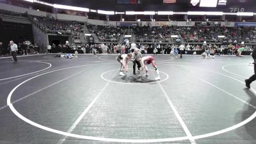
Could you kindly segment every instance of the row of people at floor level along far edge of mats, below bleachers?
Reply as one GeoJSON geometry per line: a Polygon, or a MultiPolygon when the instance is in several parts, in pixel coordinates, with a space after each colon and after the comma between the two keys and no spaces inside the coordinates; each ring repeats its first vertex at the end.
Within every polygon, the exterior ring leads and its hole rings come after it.
{"type": "MultiPolygon", "coordinates": [[[[195,45],[195,44],[136,44],[136,47],[142,54],[173,54],[174,51],[179,51],[180,45],[184,45],[184,54],[202,54],[205,51],[213,51],[213,54],[228,54],[234,55],[237,49],[244,47],[243,51],[252,51],[253,45],[195,45]]],[[[121,54],[129,53],[132,51],[131,44],[65,44],[51,46],[49,52],[75,52],[79,53],[93,53],[98,54],[121,54]]]]}

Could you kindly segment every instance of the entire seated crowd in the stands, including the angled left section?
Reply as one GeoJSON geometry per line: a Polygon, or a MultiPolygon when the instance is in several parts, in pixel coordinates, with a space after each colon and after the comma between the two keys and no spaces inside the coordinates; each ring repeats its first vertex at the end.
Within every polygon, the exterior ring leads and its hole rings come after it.
{"type": "MultiPolygon", "coordinates": [[[[76,21],[61,21],[51,17],[35,17],[41,29],[47,33],[73,35],[80,39],[83,24],[76,21]]],[[[214,43],[256,43],[255,27],[225,27],[225,26],[97,26],[88,25],[89,33],[95,34],[99,42],[120,42],[125,34],[135,36],[135,42],[164,43],[164,42],[214,42],[214,43]],[[177,35],[173,38],[172,35],[177,35]],[[225,36],[220,38],[218,36],[225,36]]],[[[88,41],[88,40],[87,40],[88,41]]]]}

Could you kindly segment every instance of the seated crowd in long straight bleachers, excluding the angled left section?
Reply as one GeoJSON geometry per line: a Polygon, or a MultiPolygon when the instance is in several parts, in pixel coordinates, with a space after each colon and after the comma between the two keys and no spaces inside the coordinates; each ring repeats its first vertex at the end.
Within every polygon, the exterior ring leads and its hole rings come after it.
{"type": "MultiPolygon", "coordinates": [[[[95,33],[100,42],[119,42],[127,28],[118,26],[88,26],[90,33],[95,33]]],[[[136,42],[223,42],[223,43],[256,43],[255,27],[225,27],[225,26],[193,26],[193,27],[178,27],[178,26],[161,26],[148,27],[136,26],[129,28],[132,34],[136,36],[136,42]],[[172,35],[177,35],[177,38],[172,38],[172,35]],[[220,38],[218,36],[225,36],[220,38]],[[179,39],[179,40],[177,40],[179,39]],[[182,40],[180,40],[182,39],[182,40]]]]}

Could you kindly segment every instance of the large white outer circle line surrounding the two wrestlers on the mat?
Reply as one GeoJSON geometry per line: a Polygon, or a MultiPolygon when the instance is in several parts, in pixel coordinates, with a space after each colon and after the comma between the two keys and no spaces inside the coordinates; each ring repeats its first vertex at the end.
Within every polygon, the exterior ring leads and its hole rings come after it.
{"type": "MultiPolygon", "coordinates": [[[[92,64],[92,65],[108,65],[109,63],[101,63],[101,64],[92,64]]],[[[164,65],[164,64],[163,64],[164,65]]],[[[81,65],[81,66],[76,66],[76,67],[86,67],[86,66],[90,66],[90,65],[81,65]]],[[[178,66],[178,67],[188,67],[188,66],[183,66],[183,65],[173,65],[173,66],[178,66]]],[[[68,67],[68,68],[76,68],[76,67],[68,67]]],[[[59,70],[65,70],[65,69],[68,69],[68,68],[61,68],[59,70]]],[[[189,67],[189,68],[193,68],[193,67],[189,67]]],[[[200,69],[200,70],[205,70],[205,71],[209,71],[209,72],[213,72],[213,73],[216,73],[216,74],[220,74],[222,76],[226,76],[226,77],[230,77],[230,76],[227,76],[225,74],[221,74],[219,72],[214,72],[212,70],[207,70],[207,69],[204,69],[204,68],[196,68],[196,69],[200,69]]],[[[52,70],[51,72],[56,72],[56,71],[59,71],[59,70],[52,70]]],[[[51,72],[45,72],[44,74],[49,74],[51,72]]],[[[40,74],[38,76],[42,76],[44,74],[40,74]]],[[[35,77],[38,77],[38,76],[35,76],[35,77]]],[[[19,88],[20,85],[26,83],[27,81],[31,80],[31,79],[34,79],[35,77],[31,77],[29,79],[27,79],[26,81],[23,81],[22,83],[18,84],[17,86],[15,86],[15,88],[12,89],[12,91],[9,93],[8,95],[8,98],[7,98],[7,104],[8,106],[10,107],[10,109],[12,110],[12,112],[18,116],[20,119],[24,120],[24,122],[27,122],[28,124],[31,124],[35,127],[38,127],[40,129],[44,129],[45,131],[49,131],[49,132],[54,132],[56,134],[62,134],[64,136],[70,136],[70,137],[73,137],[73,138],[81,138],[81,139],[85,139],[85,140],[97,140],[97,141],[109,141],[109,142],[123,142],[123,143],[156,143],[156,142],[167,142],[167,141],[181,141],[181,140],[189,140],[189,137],[188,136],[182,136],[182,137],[177,137],[177,138],[161,138],[161,139],[145,139],[145,140],[134,140],[134,139],[116,139],[116,138],[100,138],[100,137],[95,137],[95,136],[83,136],[83,135],[79,135],[79,134],[72,134],[72,133],[69,133],[69,132],[63,132],[63,131],[59,131],[59,130],[56,130],[56,129],[52,129],[50,127],[45,127],[44,125],[40,125],[40,124],[37,124],[36,122],[33,122],[31,120],[29,120],[28,118],[24,117],[23,115],[21,115],[12,105],[12,102],[11,102],[11,97],[12,97],[12,94],[13,92],[19,88]]],[[[234,78],[234,77],[230,77],[231,79],[234,79],[236,81],[239,81],[238,79],[234,78]]],[[[242,81],[239,81],[240,83],[244,84],[242,81]]],[[[251,88],[251,90],[253,91],[253,93],[256,93],[255,90],[253,88],[251,88]]],[[[248,118],[246,118],[246,120],[243,120],[243,122],[240,122],[239,124],[236,124],[236,125],[233,125],[231,127],[227,127],[225,129],[222,129],[220,131],[216,131],[216,132],[210,132],[210,133],[207,133],[207,134],[201,134],[201,135],[198,135],[198,136],[193,136],[193,138],[196,140],[196,139],[200,139],[200,138],[207,138],[207,137],[210,137],[210,136],[216,136],[218,134],[223,134],[225,132],[228,132],[228,131],[232,131],[234,129],[237,129],[238,127],[241,127],[245,124],[247,124],[248,122],[250,122],[251,120],[253,120],[253,118],[256,117],[256,111],[253,113],[253,115],[249,116],[248,118]]]]}

